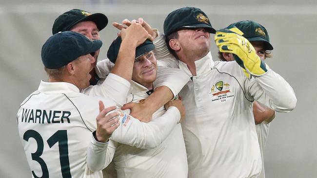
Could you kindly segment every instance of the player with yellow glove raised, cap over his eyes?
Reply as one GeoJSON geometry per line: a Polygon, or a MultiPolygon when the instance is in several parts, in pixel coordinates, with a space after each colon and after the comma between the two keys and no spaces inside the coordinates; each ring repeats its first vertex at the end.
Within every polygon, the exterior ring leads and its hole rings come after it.
{"type": "Polygon", "coordinates": [[[253,101],[290,112],[297,103],[292,87],[260,60],[237,28],[216,33],[198,8],[171,12],[164,33],[165,38],[159,35],[154,41],[160,64],[178,67],[191,77],[179,93],[187,113],[181,125],[188,177],[257,177],[262,161],[253,101]],[[220,52],[235,54],[237,62],[213,61],[210,33],[216,33],[220,52]]]}

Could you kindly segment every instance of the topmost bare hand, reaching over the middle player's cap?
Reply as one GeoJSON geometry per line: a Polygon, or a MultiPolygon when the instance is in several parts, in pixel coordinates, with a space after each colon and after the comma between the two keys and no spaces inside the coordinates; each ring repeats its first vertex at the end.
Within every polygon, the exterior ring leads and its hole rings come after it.
{"type": "MultiPolygon", "coordinates": [[[[126,29],[127,27],[129,27],[132,22],[136,22],[142,25],[142,27],[154,38],[156,38],[158,36],[158,33],[153,31],[152,27],[146,23],[146,21],[143,18],[138,18],[138,20],[128,20],[128,19],[124,19],[122,20],[122,24],[114,22],[112,23],[112,25],[114,27],[116,27],[118,30],[122,30],[122,29],[126,29]]],[[[118,33],[118,36],[120,36],[120,32],[118,33]]]]}

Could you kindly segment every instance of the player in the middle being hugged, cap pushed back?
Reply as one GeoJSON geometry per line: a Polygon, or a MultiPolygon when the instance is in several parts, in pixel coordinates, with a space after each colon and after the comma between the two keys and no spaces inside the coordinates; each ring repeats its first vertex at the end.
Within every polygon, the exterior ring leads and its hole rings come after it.
{"type": "MultiPolygon", "coordinates": [[[[116,63],[120,43],[121,38],[118,37],[108,50],[107,56],[113,63],[116,63]]],[[[127,102],[140,102],[157,87],[155,81],[158,68],[153,49],[154,45],[149,40],[136,49],[131,94],[127,97],[127,102]]],[[[167,68],[158,69],[158,80],[171,74],[178,76],[178,80],[175,79],[174,83],[181,88],[186,82],[180,82],[179,79],[185,77],[187,81],[189,80],[183,71],[167,68]]],[[[158,117],[165,111],[164,107],[159,108],[153,115],[153,121],[159,119],[158,117]]],[[[95,141],[92,140],[92,142],[95,141]]],[[[101,145],[96,142],[96,148],[88,150],[88,163],[91,162],[92,167],[99,165],[99,170],[103,169],[113,159],[119,178],[187,178],[187,158],[180,124],[176,125],[168,137],[154,149],[145,150],[126,144],[111,143],[109,142],[108,147],[101,149],[101,145]],[[90,157],[89,151],[99,154],[91,154],[90,157]],[[112,153],[113,158],[106,157],[108,153],[112,153]]]]}

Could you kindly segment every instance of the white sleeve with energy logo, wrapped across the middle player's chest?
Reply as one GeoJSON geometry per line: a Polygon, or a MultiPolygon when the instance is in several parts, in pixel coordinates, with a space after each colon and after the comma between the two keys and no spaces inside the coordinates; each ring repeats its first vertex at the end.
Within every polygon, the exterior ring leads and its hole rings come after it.
{"type": "Polygon", "coordinates": [[[178,124],[180,113],[177,107],[169,107],[160,117],[149,123],[142,123],[122,113],[120,125],[112,133],[111,140],[142,149],[157,147],[178,124]]]}

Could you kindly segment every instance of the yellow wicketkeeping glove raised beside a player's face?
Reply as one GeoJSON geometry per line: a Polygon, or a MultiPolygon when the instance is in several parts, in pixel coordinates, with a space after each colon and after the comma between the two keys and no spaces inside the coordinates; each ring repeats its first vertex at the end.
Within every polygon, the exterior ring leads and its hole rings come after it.
{"type": "MultiPolygon", "coordinates": [[[[247,73],[260,76],[265,74],[269,66],[260,59],[251,43],[238,28],[220,29],[216,32],[215,42],[220,52],[233,53],[236,62],[247,73]]],[[[247,74],[246,74],[247,75],[247,74]]],[[[247,75],[249,78],[250,75],[247,75]]]]}

